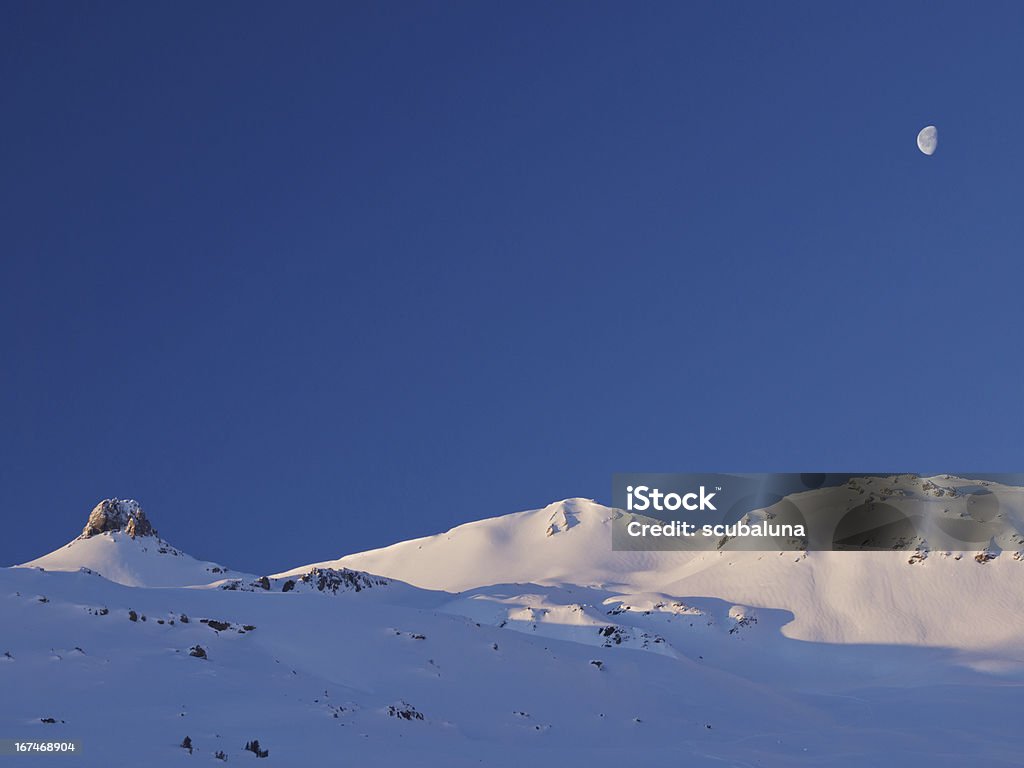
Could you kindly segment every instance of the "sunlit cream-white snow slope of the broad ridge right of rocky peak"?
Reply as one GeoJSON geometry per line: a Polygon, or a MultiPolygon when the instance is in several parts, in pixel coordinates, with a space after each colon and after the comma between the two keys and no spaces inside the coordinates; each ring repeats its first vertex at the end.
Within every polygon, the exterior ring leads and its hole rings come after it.
{"type": "MultiPolygon", "coordinates": [[[[821,493],[829,492],[808,495],[821,493]]],[[[782,633],[794,639],[952,647],[1024,662],[1017,551],[981,563],[959,552],[614,552],[616,514],[570,499],[318,565],[450,592],[522,583],[713,597],[792,613],[782,633]]]]}

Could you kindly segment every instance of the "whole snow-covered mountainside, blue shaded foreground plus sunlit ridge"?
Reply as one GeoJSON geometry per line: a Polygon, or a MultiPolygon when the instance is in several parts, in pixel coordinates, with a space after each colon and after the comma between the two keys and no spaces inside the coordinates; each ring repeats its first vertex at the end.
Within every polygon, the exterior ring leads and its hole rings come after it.
{"type": "Polygon", "coordinates": [[[265,579],[99,530],[0,569],[0,738],[80,740],[31,758],[65,766],[1020,765],[1014,552],[614,553],[614,514],[265,579]]]}

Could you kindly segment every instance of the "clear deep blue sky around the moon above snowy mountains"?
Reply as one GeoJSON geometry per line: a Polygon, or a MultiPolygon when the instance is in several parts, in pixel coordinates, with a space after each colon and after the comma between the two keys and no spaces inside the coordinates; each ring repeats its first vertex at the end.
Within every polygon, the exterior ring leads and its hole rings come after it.
{"type": "Polygon", "coordinates": [[[0,563],[1024,469],[1020,3],[154,6],[0,6],[0,563]]]}

